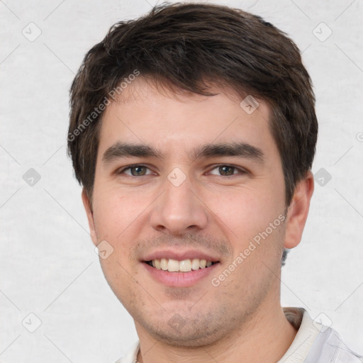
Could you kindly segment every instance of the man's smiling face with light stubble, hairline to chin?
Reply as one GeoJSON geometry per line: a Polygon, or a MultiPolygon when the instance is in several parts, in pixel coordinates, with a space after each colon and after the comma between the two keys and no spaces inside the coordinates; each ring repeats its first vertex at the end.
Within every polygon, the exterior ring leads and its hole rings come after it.
{"type": "Polygon", "coordinates": [[[139,335],[174,345],[214,342],[279,302],[294,224],[269,107],[218,91],[135,80],[104,113],[92,208],[83,194],[94,244],[113,251],[100,259],[111,289],[139,335]]]}

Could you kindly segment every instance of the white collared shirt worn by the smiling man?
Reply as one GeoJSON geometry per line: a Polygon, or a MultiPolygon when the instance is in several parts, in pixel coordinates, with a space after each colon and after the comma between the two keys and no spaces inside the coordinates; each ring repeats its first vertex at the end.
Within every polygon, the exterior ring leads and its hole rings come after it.
{"type": "MultiPolygon", "coordinates": [[[[342,342],[340,335],[314,321],[303,308],[284,308],[287,320],[298,329],[289,349],[277,363],[362,363],[363,357],[354,354],[342,342]]],[[[115,363],[138,363],[140,342],[115,363]]]]}

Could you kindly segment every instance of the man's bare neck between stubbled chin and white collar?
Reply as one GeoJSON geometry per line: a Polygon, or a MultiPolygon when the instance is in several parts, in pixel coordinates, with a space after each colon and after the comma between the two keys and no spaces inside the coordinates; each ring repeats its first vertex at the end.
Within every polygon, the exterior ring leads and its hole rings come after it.
{"type": "Polygon", "coordinates": [[[206,346],[175,347],[155,340],[136,322],[135,326],[140,338],[140,363],[199,363],[202,360],[274,363],[288,350],[297,333],[286,319],[279,301],[262,303],[243,326],[206,346]]]}

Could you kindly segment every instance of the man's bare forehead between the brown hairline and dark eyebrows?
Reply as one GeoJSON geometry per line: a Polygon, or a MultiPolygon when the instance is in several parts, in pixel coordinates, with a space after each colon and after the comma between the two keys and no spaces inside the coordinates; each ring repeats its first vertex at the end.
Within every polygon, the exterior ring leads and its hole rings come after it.
{"type": "Polygon", "coordinates": [[[216,95],[171,89],[138,77],[104,111],[99,153],[120,140],[152,143],[170,154],[202,143],[274,143],[266,102],[258,100],[255,111],[248,113],[241,106],[247,95],[228,86],[211,86],[208,91],[216,95]]]}

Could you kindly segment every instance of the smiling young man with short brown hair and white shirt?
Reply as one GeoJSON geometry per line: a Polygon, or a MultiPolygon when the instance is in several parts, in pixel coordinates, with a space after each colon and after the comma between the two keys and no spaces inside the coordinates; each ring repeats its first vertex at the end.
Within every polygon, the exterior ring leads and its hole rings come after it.
{"type": "Polygon", "coordinates": [[[362,362],[279,298],[313,194],[314,104],[296,45],[224,6],[159,6],[89,50],[68,147],[140,338],[119,362],[362,362]]]}

